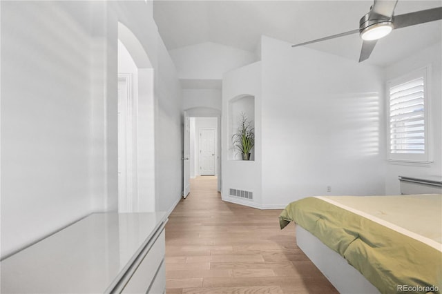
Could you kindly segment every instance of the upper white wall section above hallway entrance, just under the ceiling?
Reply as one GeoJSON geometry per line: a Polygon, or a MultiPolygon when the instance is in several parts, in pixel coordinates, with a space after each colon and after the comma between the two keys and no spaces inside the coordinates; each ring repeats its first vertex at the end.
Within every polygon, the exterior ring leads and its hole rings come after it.
{"type": "Polygon", "coordinates": [[[224,72],[255,62],[254,52],[206,42],[169,51],[180,79],[222,79],[224,72]]]}

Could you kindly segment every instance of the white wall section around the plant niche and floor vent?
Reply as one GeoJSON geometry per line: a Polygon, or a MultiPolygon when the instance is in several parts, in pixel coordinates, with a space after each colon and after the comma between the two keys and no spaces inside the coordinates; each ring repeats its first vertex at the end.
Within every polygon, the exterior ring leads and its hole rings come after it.
{"type": "Polygon", "coordinates": [[[261,149],[261,62],[238,68],[224,74],[222,79],[222,199],[229,202],[246,203],[261,208],[262,149],[261,149]],[[243,95],[255,100],[255,160],[233,160],[229,157],[232,149],[229,102],[243,95]],[[253,200],[229,196],[229,189],[253,192],[253,200]]]}

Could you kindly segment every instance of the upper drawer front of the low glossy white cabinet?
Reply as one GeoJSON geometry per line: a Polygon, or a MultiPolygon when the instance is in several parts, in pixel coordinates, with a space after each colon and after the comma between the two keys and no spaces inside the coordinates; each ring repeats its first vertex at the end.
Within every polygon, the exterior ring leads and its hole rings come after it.
{"type": "MultiPolygon", "coordinates": [[[[165,250],[166,241],[163,230],[144,256],[131,279],[124,286],[122,293],[146,293],[153,283],[158,268],[162,265],[165,250]]],[[[161,274],[163,273],[158,273],[158,275],[161,274]]]]}

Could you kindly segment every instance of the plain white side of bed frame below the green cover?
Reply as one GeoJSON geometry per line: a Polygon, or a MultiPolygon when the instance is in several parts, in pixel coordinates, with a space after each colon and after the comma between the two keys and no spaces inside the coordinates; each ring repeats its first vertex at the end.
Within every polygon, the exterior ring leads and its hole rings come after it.
{"type": "Polygon", "coordinates": [[[298,225],[296,225],[296,243],[339,293],[379,293],[378,289],[368,282],[356,268],[347,263],[347,260],[298,225]]]}

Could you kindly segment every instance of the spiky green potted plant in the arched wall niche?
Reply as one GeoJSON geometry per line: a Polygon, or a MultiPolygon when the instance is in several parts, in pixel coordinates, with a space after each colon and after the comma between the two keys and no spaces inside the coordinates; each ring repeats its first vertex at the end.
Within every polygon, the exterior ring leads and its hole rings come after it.
{"type": "Polygon", "coordinates": [[[255,129],[252,122],[247,119],[244,112],[241,112],[238,132],[232,136],[233,149],[237,149],[241,153],[242,160],[250,159],[250,151],[255,146],[255,129]]]}

